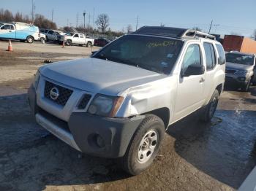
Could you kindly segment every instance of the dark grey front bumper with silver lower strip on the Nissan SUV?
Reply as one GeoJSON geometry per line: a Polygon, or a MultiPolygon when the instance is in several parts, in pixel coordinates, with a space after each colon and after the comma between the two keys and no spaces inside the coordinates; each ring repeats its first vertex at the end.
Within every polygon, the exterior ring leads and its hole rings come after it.
{"type": "Polygon", "coordinates": [[[144,118],[108,118],[73,112],[65,122],[37,106],[37,95],[32,85],[28,94],[31,111],[39,125],[80,152],[99,157],[124,156],[135,130],[144,118]],[[98,136],[104,146],[97,144],[98,136]]]}

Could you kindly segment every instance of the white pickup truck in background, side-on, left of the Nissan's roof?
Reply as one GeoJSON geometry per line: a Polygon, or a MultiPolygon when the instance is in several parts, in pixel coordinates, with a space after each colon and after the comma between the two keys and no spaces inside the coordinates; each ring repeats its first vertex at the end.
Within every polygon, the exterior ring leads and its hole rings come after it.
{"type": "Polygon", "coordinates": [[[59,42],[66,42],[67,46],[71,46],[72,44],[79,44],[80,46],[86,45],[87,47],[91,47],[94,45],[94,39],[91,39],[80,33],[67,33],[65,35],[58,35],[57,40],[59,42]]]}

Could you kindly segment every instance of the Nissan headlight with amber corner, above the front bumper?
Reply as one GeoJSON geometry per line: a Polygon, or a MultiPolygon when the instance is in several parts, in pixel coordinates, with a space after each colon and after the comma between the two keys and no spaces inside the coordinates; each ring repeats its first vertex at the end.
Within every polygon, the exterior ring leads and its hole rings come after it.
{"type": "Polygon", "coordinates": [[[115,117],[117,110],[123,102],[123,97],[113,97],[108,95],[97,94],[91,101],[88,112],[104,117],[115,117]]]}

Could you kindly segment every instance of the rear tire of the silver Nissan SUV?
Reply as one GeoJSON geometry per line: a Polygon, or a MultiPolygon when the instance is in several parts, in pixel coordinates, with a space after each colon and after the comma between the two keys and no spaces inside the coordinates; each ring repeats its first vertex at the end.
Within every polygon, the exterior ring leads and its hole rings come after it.
{"type": "Polygon", "coordinates": [[[201,117],[201,120],[203,122],[210,122],[211,118],[214,117],[214,113],[217,109],[219,102],[219,91],[214,90],[214,93],[211,95],[211,99],[209,103],[207,104],[205,110],[203,111],[203,115],[201,117]]]}

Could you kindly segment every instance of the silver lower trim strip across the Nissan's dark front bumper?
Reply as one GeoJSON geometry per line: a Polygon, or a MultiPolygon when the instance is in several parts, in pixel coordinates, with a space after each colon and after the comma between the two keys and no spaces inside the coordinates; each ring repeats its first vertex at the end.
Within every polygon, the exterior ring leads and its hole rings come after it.
{"type": "Polygon", "coordinates": [[[54,136],[58,137],[65,143],[69,144],[74,149],[81,151],[78,145],[75,143],[75,140],[71,133],[67,130],[60,128],[58,125],[55,125],[53,122],[50,122],[41,114],[36,114],[36,120],[39,125],[48,130],[50,133],[53,133],[54,136]]]}

